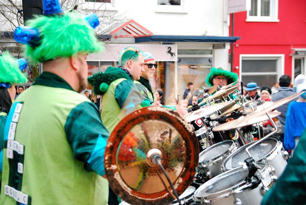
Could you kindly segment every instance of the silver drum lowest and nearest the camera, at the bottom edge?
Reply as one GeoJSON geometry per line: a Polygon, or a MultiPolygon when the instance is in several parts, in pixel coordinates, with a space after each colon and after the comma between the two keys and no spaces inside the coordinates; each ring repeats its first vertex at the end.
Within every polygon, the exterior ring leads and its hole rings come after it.
{"type": "MultiPolygon", "coordinates": [[[[266,170],[266,164],[261,163],[258,165],[262,168],[263,176],[269,179],[270,172],[266,170]]],[[[209,205],[260,205],[263,198],[260,191],[261,185],[251,189],[251,186],[259,181],[254,176],[245,181],[248,173],[248,169],[242,167],[226,171],[201,185],[194,194],[194,200],[209,205]]]]}

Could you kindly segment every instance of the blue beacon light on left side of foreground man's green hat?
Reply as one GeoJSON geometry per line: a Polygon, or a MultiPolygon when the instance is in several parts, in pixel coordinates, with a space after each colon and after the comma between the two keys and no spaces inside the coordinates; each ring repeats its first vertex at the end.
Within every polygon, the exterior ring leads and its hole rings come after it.
{"type": "Polygon", "coordinates": [[[39,31],[29,27],[17,27],[13,37],[15,41],[35,47],[39,43],[39,31]]]}

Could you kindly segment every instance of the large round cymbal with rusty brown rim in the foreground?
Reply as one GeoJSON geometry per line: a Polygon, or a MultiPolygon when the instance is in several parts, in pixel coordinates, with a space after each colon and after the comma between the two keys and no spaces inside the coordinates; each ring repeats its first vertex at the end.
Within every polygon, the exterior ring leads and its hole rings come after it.
{"type": "Polygon", "coordinates": [[[198,165],[196,139],[192,126],[173,110],[145,107],[130,113],[107,141],[104,159],[111,188],[133,205],[170,203],[174,200],[170,184],[151,159],[155,154],[161,156],[166,173],[181,195],[198,165]]]}

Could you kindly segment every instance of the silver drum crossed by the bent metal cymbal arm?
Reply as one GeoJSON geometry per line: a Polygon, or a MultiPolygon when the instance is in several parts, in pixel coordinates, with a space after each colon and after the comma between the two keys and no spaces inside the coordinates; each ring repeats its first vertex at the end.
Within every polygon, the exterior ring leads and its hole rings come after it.
{"type": "MultiPolygon", "coordinates": [[[[222,171],[228,171],[233,168],[241,166],[240,162],[244,163],[244,160],[249,158],[248,154],[245,152],[245,149],[252,145],[254,142],[248,143],[239,149],[236,152],[230,154],[222,164],[222,171]]],[[[259,144],[251,147],[249,152],[255,162],[267,161],[272,167],[275,168],[275,175],[280,177],[284,171],[287,162],[286,151],[282,150],[282,142],[279,142],[275,138],[267,138],[260,142],[259,144]]]]}

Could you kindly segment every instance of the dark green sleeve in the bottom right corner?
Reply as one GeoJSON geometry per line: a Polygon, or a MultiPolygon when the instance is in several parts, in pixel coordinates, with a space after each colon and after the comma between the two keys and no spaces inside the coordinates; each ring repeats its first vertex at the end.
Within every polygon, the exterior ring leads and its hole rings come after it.
{"type": "Polygon", "coordinates": [[[300,137],[292,158],[277,179],[276,184],[263,197],[261,205],[305,204],[306,199],[306,130],[300,137]]]}

